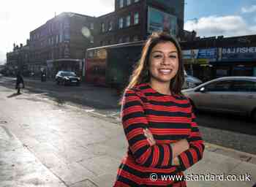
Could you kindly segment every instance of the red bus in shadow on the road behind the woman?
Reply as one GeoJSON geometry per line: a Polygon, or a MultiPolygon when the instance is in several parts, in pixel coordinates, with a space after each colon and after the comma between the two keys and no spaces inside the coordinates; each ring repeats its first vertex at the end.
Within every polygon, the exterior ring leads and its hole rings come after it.
{"type": "Polygon", "coordinates": [[[86,82],[121,88],[140,58],[143,41],[90,48],[86,52],[86,82]]]}

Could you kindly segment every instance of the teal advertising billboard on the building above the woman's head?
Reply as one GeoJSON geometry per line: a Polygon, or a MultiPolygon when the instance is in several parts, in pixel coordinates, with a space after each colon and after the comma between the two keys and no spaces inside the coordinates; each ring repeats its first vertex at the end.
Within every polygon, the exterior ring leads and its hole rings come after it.
{"type": "Polygon", "coordinates": [[[177,34],[177,18],[159,9],[148,7],[148,33],[154,31],[170,31],[170,34],[177,34]]]}

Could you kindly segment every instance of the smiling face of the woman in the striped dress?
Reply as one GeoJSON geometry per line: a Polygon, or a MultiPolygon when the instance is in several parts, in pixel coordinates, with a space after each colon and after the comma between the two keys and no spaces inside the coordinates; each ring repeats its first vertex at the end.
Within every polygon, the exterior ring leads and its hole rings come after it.
{"type": "Polygon", "coordinates": [[[178,50],[172,42],[161,42],[149,56],[151,81],[170,83],[178,72],[178,50]]]}

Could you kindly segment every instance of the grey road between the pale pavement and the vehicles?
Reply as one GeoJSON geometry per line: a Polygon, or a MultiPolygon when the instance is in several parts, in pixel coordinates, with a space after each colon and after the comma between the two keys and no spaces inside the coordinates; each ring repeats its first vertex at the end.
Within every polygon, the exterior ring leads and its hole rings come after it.
{"type": "MultiPolygon", "coordinates": [[[[2,77],[0,90],[4,87],[14,88],[14,78],[2,77]]],[[[26,80],[25,93],[30,95],[27,99],[33,100],[34,96],[43,102],[56,102],[109,121],[118,120],[120,96],[114,89],[100,88],[93,85],[63,86],[52,81],[41,83],[39,80],[26,80]]],[[[37,99],[34,99],[37,102],[37,99]]],[[[235,115],[220,115],[200,112],[197,114],[197,123],[206,142],[233,148],[247,153],[256,154],[256,124],[247,118],[235,115]]]]}

